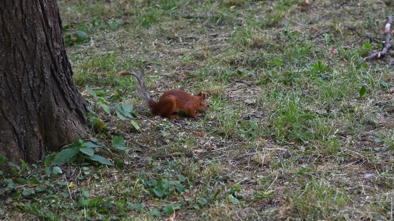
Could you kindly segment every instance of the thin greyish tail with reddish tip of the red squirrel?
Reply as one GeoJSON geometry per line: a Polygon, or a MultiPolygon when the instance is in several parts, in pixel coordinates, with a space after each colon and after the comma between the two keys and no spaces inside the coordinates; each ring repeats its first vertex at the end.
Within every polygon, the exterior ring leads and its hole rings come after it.
{"type": "Polygon", "coordinates": [[[132,69],[130,69],[129,71],[125,70],[125,71],[119,72],[119,75],[121,75],[121,76],[132,75],[132,76],[136,77],[137,81],[138,81],[136,84],[138,94],[145,100],[148,107],[152,110],[153,113],[157,112],[156,109],[157,109],[158,103],[151,98],[151,96],[149,95],[149,91],[145,87],[145,83],[144,83],[145,73],[142,68],[140,68],[140,71],[138,73],[136,73],[132,69]]]}

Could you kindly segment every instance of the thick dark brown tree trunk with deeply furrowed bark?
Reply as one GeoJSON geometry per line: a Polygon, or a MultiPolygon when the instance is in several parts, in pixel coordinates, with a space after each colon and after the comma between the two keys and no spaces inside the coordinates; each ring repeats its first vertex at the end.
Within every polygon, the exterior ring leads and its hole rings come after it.
{"type": "Polygon", "coordinates": [[[0,0],[0,155],[43,160],[85,135],[56,0],[0,0]]]}

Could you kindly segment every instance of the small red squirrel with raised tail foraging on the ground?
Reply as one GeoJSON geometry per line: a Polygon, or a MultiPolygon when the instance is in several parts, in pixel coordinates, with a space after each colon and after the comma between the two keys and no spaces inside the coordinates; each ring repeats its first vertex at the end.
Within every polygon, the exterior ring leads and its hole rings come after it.
{"type": "Polygon", "coordinates": [[[209,109],[208,101],[206,100],[206,94],[200,92],[197,96],[188,94],[183,90],[172,89],[167,90],[162,94],[159,101],[154,101],[151,96],[149,96],[149,91],[145,87],[144,78],[145,73],[141,68],[138,74],[132,69],[124,70],[119,72],[119,75],[132,75],[137,78],[137,89],[139,95],[145,100],[149,108],[154,114],[161,114],[166,118],[179,119],[179,116],[173,115],[174,112],[185,112],[188,115],[194,117],[200,116],[201,114],[196,114],[196,110],[199,112],[205,112],[209,109]]]}

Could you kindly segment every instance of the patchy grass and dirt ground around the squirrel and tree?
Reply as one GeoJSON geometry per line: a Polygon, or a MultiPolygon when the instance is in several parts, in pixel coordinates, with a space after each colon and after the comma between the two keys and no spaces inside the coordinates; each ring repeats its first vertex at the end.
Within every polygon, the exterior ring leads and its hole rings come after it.
{"type": "Polygon", "coordinates": [[[91,136],[117,166],[74,162],[46,178],[37,164],[45,191],[2,188],[6,220],[392,220],[393,52],[361,64],[383,48],[391,1],[58,4],[91,136]],[[204,91],[211,109],[151,114],[117,76],[138,63],[155,99],[204,91]],[[138,129],[97,98],[132,104],[138,129]]]}

